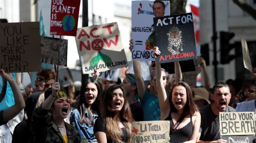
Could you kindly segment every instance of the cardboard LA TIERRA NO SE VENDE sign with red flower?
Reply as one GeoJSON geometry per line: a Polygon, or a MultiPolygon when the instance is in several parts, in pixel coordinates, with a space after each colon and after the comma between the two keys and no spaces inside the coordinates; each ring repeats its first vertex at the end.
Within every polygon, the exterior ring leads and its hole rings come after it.
{"type": "Polygon", "coordinates": [[[132,143],[169,142],[170,121],[132,122],[132,143]]]}

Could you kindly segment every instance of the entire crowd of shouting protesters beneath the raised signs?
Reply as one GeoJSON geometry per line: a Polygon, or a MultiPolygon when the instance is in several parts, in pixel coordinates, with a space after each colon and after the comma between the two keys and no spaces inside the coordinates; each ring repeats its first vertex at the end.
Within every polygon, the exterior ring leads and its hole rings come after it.
{"type": "MultiPolygon", "coordinates": [[[[164,14],[162,3],[154,2],[156,17],[164,14]]],[[[132,40],[129,48],[132,51],[132,40]]],[[[154,47],[155,59],[160,53],[154,47]]],[[[24,89],[19,74],[0,69],[15,102],[0,111],[0,143],[131,143],[133,121],[158,120],[170,121],[170,143],[227,143],[220,139],[219,113],[256,114],[256,84],[236,78],[210,88],[201,57],[199,64],[202,87],[182,81],[179,62],[174,64],[174,81],[153,62],[148,85],[139,61],[133,61],[134,74],[127,70],[123,82],[99,80],[94,70],[92,78],[68,87],[62,87],[54,71],[43,69],[37,73],[35,89],[24,89]]],[[[256,81],[256,68],[251,75],[256,81]]]]}

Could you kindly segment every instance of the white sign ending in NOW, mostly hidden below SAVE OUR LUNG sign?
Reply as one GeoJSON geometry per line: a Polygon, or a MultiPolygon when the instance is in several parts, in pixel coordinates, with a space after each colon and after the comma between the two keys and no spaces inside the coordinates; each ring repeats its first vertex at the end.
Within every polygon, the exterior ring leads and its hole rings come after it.
{"type": "MultiPolygon", "coordinates": [[[[99,79],[106,79],[108,81],[115,81],[117,82],[118,80],[118,75],[120,72],[120,68],[118,69],[111,69],[105,72],[100,72],[99,73],[99,79]]],[[[89,75],[90,77],[92,77],[92,74],[89,75]]]]}

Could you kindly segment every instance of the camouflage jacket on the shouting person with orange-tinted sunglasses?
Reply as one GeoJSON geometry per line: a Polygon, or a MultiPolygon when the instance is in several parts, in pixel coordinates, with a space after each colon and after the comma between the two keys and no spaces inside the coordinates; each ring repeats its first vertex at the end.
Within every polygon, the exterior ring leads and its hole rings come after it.
{"type": "MultiPolygon", "coordinates": [[[[32,138],[30,143],[64,143],[61,131],[53,121],[49,110],[44,110],[41,106],[36,109],[33,116],[32,138]]],[[[88,143],[86,139],[80,137],[77,130],[65,122],[69,143],[88,143]]]]}

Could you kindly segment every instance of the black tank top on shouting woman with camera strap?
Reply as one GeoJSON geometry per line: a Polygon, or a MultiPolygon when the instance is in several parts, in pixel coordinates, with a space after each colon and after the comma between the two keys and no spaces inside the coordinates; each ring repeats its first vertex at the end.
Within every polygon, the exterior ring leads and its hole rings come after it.
{"type": "MultiPolygon", "coordinates": [[[[170,121],[170,127],[173,127],[175,123],[173,123],[171,113],[165,120],[170,121]]],[[[192,134],[193,130],[193,123],[192,117],[190,117],[190,122],[186,124],[186,126],[182,127],[181,129],[177,129],[172,135],[170,135],[170,143],[183,143],[189,140],[189,137],[192,134]]]]}

